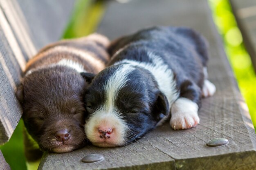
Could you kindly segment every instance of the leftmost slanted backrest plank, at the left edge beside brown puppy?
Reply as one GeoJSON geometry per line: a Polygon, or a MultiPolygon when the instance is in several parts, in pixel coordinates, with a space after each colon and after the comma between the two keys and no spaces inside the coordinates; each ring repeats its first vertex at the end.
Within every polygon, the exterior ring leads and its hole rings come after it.
{"type": "Polygon", "coordinates": [[[0,144],[4,144],[21,117],[21,108],[14,93],[25,59],[1,9],[0,39],[0,144]]]}

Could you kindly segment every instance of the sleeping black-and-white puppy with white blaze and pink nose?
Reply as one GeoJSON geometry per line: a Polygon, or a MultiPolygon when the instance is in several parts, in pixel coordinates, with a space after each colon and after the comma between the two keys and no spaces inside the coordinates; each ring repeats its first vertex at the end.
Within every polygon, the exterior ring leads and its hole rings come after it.
{"type": "Polygon", "coordinates": [[[85,132],[97,146],[124,146],[162,124],[199,123],[201,96],[213,95],[207,80],[207,44],[189,28],[153,27],[115,40],[109,67],[92,80],[85,95],[85,132]]]}

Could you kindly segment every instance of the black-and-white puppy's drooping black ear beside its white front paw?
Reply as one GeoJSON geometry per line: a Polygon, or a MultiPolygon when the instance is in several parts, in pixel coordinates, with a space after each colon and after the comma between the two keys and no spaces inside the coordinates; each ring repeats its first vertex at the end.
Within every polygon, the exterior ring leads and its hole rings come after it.
{"type": "Polygon", "coordinates": [[[170,112],[168,99],[162,92],[158,94],[157,101],[155,102],[155,111],[159,115],[161,115],[162,113],[166,116],[170,112]]]}

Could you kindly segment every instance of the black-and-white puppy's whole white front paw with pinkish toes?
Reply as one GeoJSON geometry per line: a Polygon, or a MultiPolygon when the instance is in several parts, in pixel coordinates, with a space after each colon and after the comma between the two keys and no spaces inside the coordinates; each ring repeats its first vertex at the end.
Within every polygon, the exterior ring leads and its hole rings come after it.
{"type": "Polygon", "coordinates": [[[199,124],[198,105],[187,99],[179,98],[171,108],[170,124],[174,130],[189,129],[199,124]]]}

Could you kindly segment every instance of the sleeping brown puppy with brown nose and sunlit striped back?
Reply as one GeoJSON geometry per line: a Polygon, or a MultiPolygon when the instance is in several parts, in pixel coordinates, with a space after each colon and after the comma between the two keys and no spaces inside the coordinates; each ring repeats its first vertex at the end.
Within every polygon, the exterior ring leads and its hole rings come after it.
{"type": "Polygon", "coordinates": [[[40,149],[70,152],[85,144],[82,99],[88,83],[80,73],[97,74],[105,68],[108,44],[99,34],[62,40],[27,63],[16,95],[25,127],[40,149]]]}

